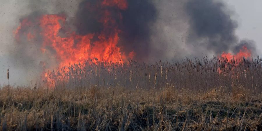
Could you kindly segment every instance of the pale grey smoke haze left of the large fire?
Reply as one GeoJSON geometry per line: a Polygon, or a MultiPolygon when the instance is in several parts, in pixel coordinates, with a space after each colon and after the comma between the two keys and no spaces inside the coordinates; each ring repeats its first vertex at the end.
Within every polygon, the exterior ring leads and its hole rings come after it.
{"type": "MultiPolygon", "coordinates": [[[[40,41],[26,41],[21,38],[20,42],[15,40],[14,31],[24,18],[36,20],[39,15],[66,13],[68,17],[74,16],[78,8],[77,1],[46,1],[46,0],[9,0],[0,2],[0,84],[7,83],[6,70],[10,70],[10,84],[31,84],[39,82],[40,73],[43,71],[45,63],[55,63],[52,54],[41,53],[40,41]],[[63,11],[61,11],[63,10],[63,11]]],[[[32,27],[37,28],[37,27],[32,27]]]]}

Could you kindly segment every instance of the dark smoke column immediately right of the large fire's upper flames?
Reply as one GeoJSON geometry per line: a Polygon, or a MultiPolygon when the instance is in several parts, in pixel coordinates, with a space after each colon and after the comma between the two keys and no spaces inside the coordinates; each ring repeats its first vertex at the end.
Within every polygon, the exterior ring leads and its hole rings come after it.
{"type": "Polygon", "coordinates": [[[123,34],[121,46],[137,53],[136,59],[150,59],[153,23],[157,20],[157,10],[152,1],[128,0],[128,9],[123,14],[123,34]]]}

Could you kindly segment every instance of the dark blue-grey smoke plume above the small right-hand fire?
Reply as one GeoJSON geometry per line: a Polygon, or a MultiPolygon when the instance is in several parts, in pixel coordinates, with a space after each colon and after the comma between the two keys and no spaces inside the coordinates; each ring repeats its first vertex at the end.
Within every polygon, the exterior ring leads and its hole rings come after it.
{"type": "MultiPolygon", "coordinates": [[[[238,43],[235,34],[237,22],[231,19],[232,14],[221,1],[189,0],[185,10],[190,25],[187,44],[212,50],[215,54],[239,51],[244,46],[243,41],[238,43]]],[[[254,42],[245,41],[245,46],[253,50],[254,42]]]]}

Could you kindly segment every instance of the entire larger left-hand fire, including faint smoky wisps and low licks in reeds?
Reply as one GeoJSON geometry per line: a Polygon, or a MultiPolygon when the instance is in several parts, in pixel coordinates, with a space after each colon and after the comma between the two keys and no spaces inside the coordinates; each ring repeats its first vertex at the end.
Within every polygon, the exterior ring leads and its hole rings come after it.
{"type": "MultiPolygon", "coordinates": [[[[119,10],[128,8],[126,0],[102,0],[97,6],[114,7],[119,10]]],[[[88,8],[88,3],[86,7],[88,8]]],[[[15,39],[20,43],[26,38],[28,43],[33,43],[41,38],[39,51],[43,54],[50,49],[55,52],[58,63],[55,67],[47,67],[42,75],[44,77],[48,77],[49,73],[46,72],[52,68],[70,67],[77,63],[86,63],[88,60],[123,63],[132,59],[134,52],[123,52],[122,47],[118,46],[121,30],[118,26],[112,26],[116,24],[116,16],[107,8],[99,11],[101,18],[98,21],[103,26],[100,32],[79,35],[69,29],[70,27],[65,28],[68,25],[66,15],[45,14],[34,19],[21,20],[20,26],[14,31],[15,39]]],[[[121,20],[121,13],[117,17],[121,20]]]]}

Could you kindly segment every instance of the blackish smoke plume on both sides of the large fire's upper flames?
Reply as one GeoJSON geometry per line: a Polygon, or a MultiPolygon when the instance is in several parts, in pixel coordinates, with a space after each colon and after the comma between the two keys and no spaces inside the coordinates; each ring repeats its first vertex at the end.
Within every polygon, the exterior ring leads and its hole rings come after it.
{"type": "MultiPolygon", "coordinates": [[[[88,33],[98,33],[102,31],[103,25],[99,21],[103,14],[99,10],[108,10],[113,14],[116,23],[112,27],[118,27],[121,30],[119,46],[123,47],[125,52],[134,51],[136,60],[145,60],[148,58],[150,48],[150,37],[152,25],[157,19],[156,8],[152,1],[148,0],[128,0],[128,8],[121,10],[115,7],[100,7],[96,5],[102,3],[101,0],[84,0],[79,4],[74,18],[74,24],[77,27],[77,33],[85,35],[88,33]],[[122,18],[118,17],[121,13],[122,18]]],[[[108,36],[114,30],[108,29],[108,36]]]]}

